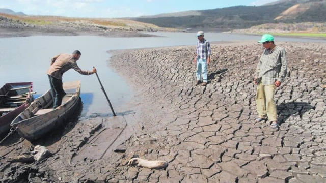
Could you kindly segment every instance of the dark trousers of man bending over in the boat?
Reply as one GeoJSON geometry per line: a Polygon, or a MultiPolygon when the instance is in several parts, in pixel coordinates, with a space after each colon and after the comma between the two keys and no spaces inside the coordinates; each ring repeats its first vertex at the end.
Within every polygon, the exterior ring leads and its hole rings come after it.
{"type": "Polygon", "coordinates": [[[57,79],[48,75],[50,86],[51,86],[51,94],[53,98],[53,109],[59,107],[62,103],[63,96],[66,95],[65,90],[62,88],[62,80],[57,79]]]}

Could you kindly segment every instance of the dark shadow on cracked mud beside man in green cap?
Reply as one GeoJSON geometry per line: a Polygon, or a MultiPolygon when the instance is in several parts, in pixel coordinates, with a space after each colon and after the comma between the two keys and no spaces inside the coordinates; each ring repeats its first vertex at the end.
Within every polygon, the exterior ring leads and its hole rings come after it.
{"type": "Polygon", "coordinates": [[[315,107],[311,106],[306,102],[283,102],[277,105],[278,123],[284,123],[291,116],[300,117],[302,119],[303,114],[311,109],[314,110],[315,107]]]}

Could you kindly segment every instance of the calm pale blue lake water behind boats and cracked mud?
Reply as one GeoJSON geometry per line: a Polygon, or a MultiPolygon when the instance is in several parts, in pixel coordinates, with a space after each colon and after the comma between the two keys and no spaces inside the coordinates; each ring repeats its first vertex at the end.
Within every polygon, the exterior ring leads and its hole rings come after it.
{"type": "MultiPolygon", "coordinates": [[[[98,36],[32,36],[1,38],[0,40],[0,85],[8,82],[33,82],[36,96],[41,96],[49,88],[46,71],[50,60],[59,53],[80,50],[82,56],[78,66],[83,70],[97,68],[98,76],[114,109],[128,102],[132,91],[128,84],[107,66],[110,58],[107,50],[195,45],[196,33],[150,33],[165,37],[146,38],[106,38],[98,36]]],[[[206,33],[205,38],[213,41],[260,40],[261,36],[206,33]]],[[[296,39],[275,37],[277,41],[325,42],[318,39],[296,39]]],[[[257,43],[258,44],[258,43],[257,43]]],[[[111,62],[116,62],[111,60],[111,62]]],[[[81,80],[81,98],[84,103],[82,116],[92,114],[112,115],[110,106],[100,89],[96,75],[84,76],[69,70],[63,82],[81,80]]],[[[127,109],[126,109],[127,111],[127,109]]],[[[124,111],[115,111],[123,114],[124,111]]]]}

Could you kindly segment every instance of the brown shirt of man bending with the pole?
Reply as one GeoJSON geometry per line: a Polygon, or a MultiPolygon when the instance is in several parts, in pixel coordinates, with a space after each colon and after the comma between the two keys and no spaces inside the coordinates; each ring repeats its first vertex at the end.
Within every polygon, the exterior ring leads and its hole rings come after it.
{"type": "Polygon", "coordinates": [[[83,75],[92,74],[91,71],[84,71],[80,69],[73,56],[71,54],[66,53],[60,54],[51,59],[51,66],[47,70],[47,74],[54,78],[62,79],[63,73],[65,73],[71,68],[83,75]]]}

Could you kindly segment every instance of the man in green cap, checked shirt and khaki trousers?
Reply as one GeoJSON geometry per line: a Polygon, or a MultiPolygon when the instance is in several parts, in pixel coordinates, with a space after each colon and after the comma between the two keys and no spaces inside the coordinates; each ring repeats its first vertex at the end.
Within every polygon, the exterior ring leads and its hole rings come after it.
{"type": "Polygon", "coordinates": [[[287,73],[287,58],[284,48],[274,44],[274,37],[264,34],[258,43],[265,48],[257,65],[254,83],[257,84],[256,122],[269,120],[271,128],[278,128],[277,109],[274,101],[275,88],[283,82],[287,73]]]}

